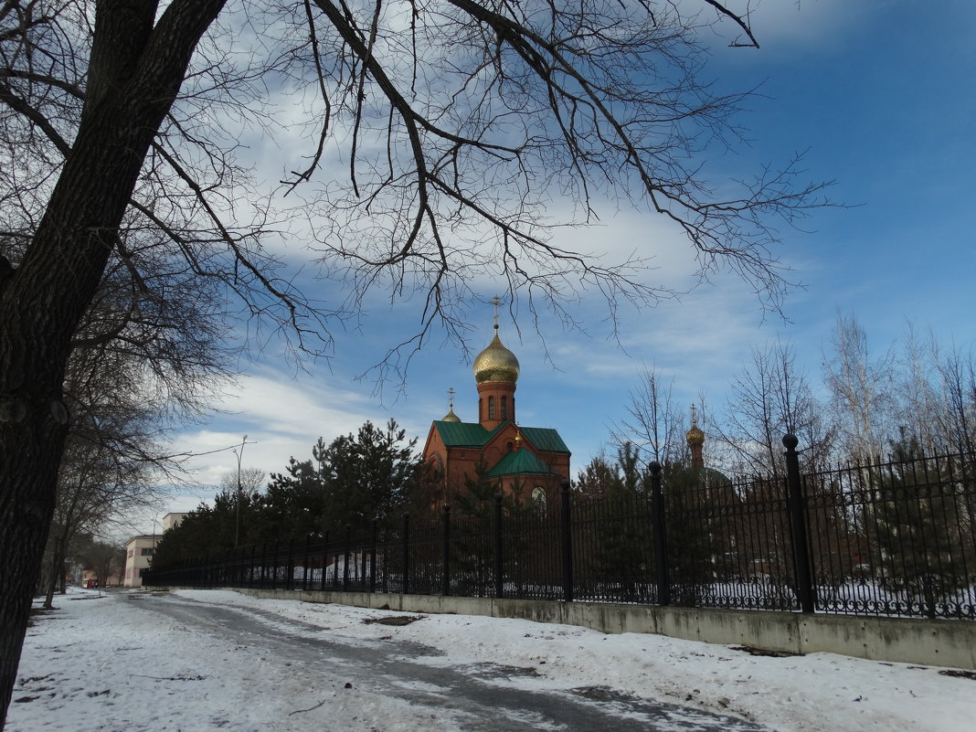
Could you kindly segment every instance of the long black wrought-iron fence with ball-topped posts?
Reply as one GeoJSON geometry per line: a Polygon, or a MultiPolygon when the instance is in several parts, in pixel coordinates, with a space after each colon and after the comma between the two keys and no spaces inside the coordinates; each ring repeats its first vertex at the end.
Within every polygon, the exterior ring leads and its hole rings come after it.
{"type": "MultiPolygon", "coordinates": [[[[669,482],[347,528],[152,567],[146,586],[357,590],[976,620],[976,456],[669,482]]],[[[667,471],[664,471],[667,472],[667,471]]]]}

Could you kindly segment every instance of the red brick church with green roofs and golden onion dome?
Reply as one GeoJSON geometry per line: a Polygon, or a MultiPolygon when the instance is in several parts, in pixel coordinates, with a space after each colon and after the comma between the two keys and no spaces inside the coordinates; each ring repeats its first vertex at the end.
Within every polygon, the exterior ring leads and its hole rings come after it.
{"type": "Polygon", "coordinates": [[[463,490],[481,463],[503,493],[520,490],[545,507],[555,501],[560,481],[569,478],[569,448],[555,429],[518,424],[518,359],[502,345],[497,322],[494,327],[491,344],[474,359],[477,421],[462,422],[452,398],[448,413],[430,425],[424,459],[442,476],[445,496],[463,490]]]}

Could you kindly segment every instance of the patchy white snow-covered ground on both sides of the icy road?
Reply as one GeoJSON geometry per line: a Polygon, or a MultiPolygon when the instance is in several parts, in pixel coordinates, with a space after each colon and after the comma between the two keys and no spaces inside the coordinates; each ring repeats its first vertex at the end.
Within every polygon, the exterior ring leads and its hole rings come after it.
{"type": "MultiPolygon", "coordinates": [[[[976,724],[976,679],[931,667],[831,654],[759,657],[658,635],[463,615],[423,616],[395,627],[364,621],[402,613],[259,600],[225,590],[173,594],[260,614],[264,623],[301,621],[344,644],[393,639],[441,651],[424,663],[531,669],[508,682],[536,690],[607,687],[732,714],[779,732],[962,732],[976,724]]],[[[140,605],[151,599],[141,592],[100,598],[97,590],[72,590],[57,599],[59,609],[35,616],[9,732],[465,729],[452,725],[450,715],[422,713],[361,684],[350,688],[342,671],[309,685],[297,662],[267,658],[224,635],[147,613],[140,605]]]]}

